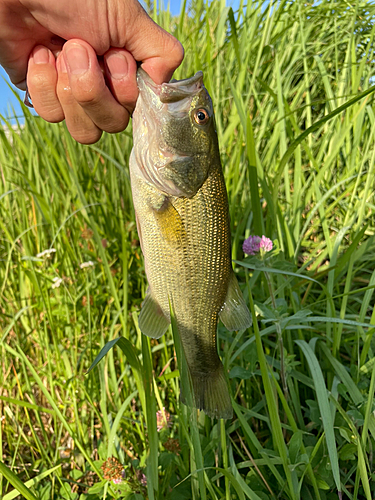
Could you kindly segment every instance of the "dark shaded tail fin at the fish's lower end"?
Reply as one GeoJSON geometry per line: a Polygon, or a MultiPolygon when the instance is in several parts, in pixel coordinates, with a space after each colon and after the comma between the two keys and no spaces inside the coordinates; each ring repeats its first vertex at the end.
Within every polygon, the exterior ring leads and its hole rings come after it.
{"type": "MultiPolygon", "coordinates": [[[[233,417],[228,382],[221,363],[214,372],[191,373],[191,381],[196,408],[203,410],[211,418],[230,419],[233,417]]],[[[186,404],[183,394],[181,394],[181,400],[186,404]]]]}

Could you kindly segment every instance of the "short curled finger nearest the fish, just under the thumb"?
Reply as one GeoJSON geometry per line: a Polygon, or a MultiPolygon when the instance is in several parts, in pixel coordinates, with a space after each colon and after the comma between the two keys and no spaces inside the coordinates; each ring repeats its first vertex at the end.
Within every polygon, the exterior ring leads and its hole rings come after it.
{"type": "Polygon", "coordinates": [[[110,49],[104,54],[105,74],[116,100],[131,114],[138,97],[137,63],[124,49],[110,49]]]}

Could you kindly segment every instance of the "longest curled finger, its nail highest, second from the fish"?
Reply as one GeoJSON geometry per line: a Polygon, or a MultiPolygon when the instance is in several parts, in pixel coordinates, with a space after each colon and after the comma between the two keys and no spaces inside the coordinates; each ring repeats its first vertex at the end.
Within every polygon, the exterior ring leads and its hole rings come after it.
{"type": "Polygon", "coordinates": [[[62,55],[68,69],[72,96],[95,125],[106,132],[124,130],[129,112],[107,87],[93,48],[82,40],[69,40],[62,55]]]}

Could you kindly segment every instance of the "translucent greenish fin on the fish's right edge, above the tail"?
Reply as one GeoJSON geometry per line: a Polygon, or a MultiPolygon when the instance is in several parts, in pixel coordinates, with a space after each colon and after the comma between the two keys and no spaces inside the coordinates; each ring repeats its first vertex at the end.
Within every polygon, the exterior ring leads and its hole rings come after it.
{"type": "Polygon", "coordinates": [[[242,292],[234,273],[229,279],[227,296],[219,314],[221,321],[228,330],[244,330],[252,324],[250,311],[245,304],[242,292]]]}

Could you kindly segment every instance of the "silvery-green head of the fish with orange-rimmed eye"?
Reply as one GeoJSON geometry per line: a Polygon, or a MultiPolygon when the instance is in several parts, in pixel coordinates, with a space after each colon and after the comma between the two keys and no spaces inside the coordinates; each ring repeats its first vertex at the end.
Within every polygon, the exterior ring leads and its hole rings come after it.
{"type": "Polygon", "coordinates": [[[133,151],[138,171],[168,195],[192,197],[219,154],[203,73],[157,85],[139,68],[137,84],[133,151]]]}

